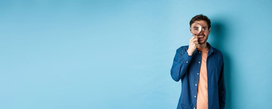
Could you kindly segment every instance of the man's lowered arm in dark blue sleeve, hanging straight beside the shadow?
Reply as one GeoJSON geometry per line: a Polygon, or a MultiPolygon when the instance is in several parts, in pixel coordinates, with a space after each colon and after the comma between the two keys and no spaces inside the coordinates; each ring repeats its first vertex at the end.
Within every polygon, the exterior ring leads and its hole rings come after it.
{"type": "Polygon", "coordinates": [[[226,88],[224,78],[224,59],[218,79],[218,96],[219,96],[219,109],[224,109],[226,104],[226,88]]]}

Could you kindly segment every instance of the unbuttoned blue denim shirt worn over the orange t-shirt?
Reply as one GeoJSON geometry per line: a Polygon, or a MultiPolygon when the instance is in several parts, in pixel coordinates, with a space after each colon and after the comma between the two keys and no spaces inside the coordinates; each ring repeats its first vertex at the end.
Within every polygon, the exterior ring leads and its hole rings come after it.
{"type": "MultiPolygon", "coordinates": [[[[209,46],[207,56],[207,78],[208,78],[208,107],[209,109],[224,109],[226,101],[226,90],[224,80],[224,60],[221,51],[209,46]]],[[[181,46],[176,50],[176,55],[171,68],[171,77],[178,82],[181,79],[181,96],[177,109],[197,109],[197,86],[201,65],[201,51],[195,50],[189,56],[187,50],[189,45],[181,46]],[[195,97],[196,96],[196,97],[195,97]]]]}

